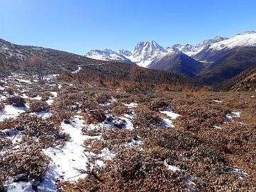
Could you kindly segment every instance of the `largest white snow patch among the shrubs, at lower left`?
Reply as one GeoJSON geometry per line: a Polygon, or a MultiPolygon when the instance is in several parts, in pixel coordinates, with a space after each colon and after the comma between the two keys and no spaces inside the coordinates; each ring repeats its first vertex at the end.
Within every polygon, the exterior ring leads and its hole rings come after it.
{"type": "MultiPolygon", "coordinates": [[[[49,147],[43,152],[50,156],[50,168],[43,177],[43,182],[38,186],[39,191],[57,191],[55,181],[78,181],[79,178],[87,176],[85,173],[88,162],[87,156],[92,154],[85,151],[83,147],[86,139],[101,139],[101,136],[90,137],[82,135],[82,128],[85,127],[81,116],[73,117],[70,124],[61,124],[63,132],[70,135],[70,139],[63,147],[49,147]]],[[[90,126],[90,125],[89,125],[90,126]]],[[[90,126],[91,127],[91,126],[90,126]]],[[[98,125],[92,126],[95,129],[98,125]]],[[[108,149],[103,149],[99,157],[112,159],[113,154],[108,149]]],[[[103,166],[103,161],[98,160],[97,164],[103,166]]]]}

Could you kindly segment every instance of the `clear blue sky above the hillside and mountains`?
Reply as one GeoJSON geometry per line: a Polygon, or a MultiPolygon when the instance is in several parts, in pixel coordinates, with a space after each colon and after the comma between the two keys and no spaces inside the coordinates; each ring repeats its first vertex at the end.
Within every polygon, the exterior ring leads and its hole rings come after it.
{"type": "Polygon", "coordinates": [[[0,0],[0,38],[84,54],[256,30],[255,0],[0,0]]]}

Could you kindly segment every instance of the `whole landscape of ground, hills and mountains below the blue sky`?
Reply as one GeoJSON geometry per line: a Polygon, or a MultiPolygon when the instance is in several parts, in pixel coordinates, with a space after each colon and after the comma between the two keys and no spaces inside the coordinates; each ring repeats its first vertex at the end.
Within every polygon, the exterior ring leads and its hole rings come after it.
{"type": "Polygon", "coordinates": [[[88,58],[0,40],[0,191],[256,191],[247,42],[88,58]]]}

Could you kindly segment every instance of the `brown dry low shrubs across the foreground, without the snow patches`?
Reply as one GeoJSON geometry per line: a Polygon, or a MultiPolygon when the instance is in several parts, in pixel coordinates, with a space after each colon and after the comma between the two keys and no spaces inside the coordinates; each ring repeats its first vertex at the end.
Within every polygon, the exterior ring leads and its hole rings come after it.
{"type": "MultiPolygon", "coordinates": [[[[120,129],[120,124],[111,129],[84,127],[83,134],[101,135],[103,139],[85,141],[85,151],[95,154],[90,156],[90,163],[102,160],[97,154],[105,147],[115,156],[111,161],[103,160],[105,167],[102,169],[96,166],[89,169],[88,176],[76,183],[60,182],[60,191],[256,190],[256,104],[255,98],[250,97],[251,93],[210,92],[203,89],[194,91],[187,88],[182,92],[172,92],[159,87],[151,89],[150,84],[144,88],[131,91],[122,87],[116,90],[86,85],[64,86],[50,107],[45,107],[45,102],[28,101],[31,112],[38,112],[37,109],[41,109],[42,105],[43,110],[53,110],[55,115],[41,119],[21,114],[17,119],[0,122],[0,129],[19,130],[26,136],[21,144],[33,146],[33,142],[38,141],[36,145],[41,149],[65,144],[68,135],[61,132],[60,123],[70,123],[70,117],[75,114],[82,115],[85,124],[112,122],[113,125],[124,114],[136,114],[131,119],[134,126],[132,130],[120,129]],[[137,107],[132,109],[124,105],[130,102],[136,102],[137,107]],[[174,128],[160,129],[162,117],[169,118],[159,112],[166,107],[181,117],[172,120],[174,128]],[[229,112],[241,112],[241,117],[233,117],[233,122],[228,122],[226,114],[229,112]],[[142,144],[136,144],[138,141],[142,144]],[[164,162],[178,166],[181,171],[167,169],[164,162]],[[239,174],[242,172],[235,172],[234,169],[240,169],[248,175],[240,179],[239,174]]],[[[38,89],[36,95],[49,98],[48,93],[43,96],[47,89],[38,89]]],[[[0,150],[14,146],[4,135],[0,135],[0,141],[0,150]]],[[[17,152],[26,156],[30,154],[29,149],[17,152]]],[[[15,154],[9,156],[19,162],[15,154]]],[[[47,162],[47,159],[38,161],[38,164],[33,164],[24,172],[41,167],[32,175],[40,179],[46,171],[47,162]]],[[[6,161],[1,160],[1,163],[8,166],[6,169],[20,170],[6,161]]],[[[10,174],[6,169],[0,169],[3,170],[0,175],[4,179],[19,173],[10,174]]],[[[24,176],[23,180],[26,179],[28,176],[24,176]]]]}

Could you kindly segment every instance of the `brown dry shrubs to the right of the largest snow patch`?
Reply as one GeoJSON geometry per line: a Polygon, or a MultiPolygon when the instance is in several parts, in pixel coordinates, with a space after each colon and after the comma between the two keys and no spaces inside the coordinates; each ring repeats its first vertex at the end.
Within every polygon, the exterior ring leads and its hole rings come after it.
{"type": "MultiPolygon", "coordinates": [[[[100,90],[84,92],[87,102],[92,103],[97,94],[100,90]]],[[[87,141],[88,151],[107,146],[116,156],[105,161],[104,169],[92,170],[77,183],[60,183],[60,191],[255,191],[256,105],[250,93],[189,90],[136,95],[105,90],[105,94],[113,95],[117,102],[103,107],[99,114],[108,111],[120,116],[129,110],[122,102],[138,103],[132,119],[134,129],[85,128],[84,133],[91,136],[103,132],[105,141],[87,141]],[[159,129],[161,117],[166,117],[159,110],[166,107],[181,117],[174,120],[174,128],[159,129]],[[228,122],[225,115],[237,111],[241,117],[228,122]],[[127,146],[138,137],[143,144],[127,146]],[[164,161],[182,171],[166,169],[164,161]],[[242,172],[235,172],[235,168],[248,175],[240,179],[242,172]]],[[[105,100],[110,97],[97,102],[105,100]]],[[[82,106],[77,110],[85,110],[82,106]]]]}

